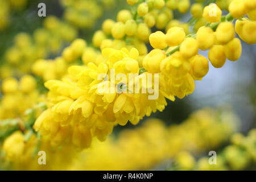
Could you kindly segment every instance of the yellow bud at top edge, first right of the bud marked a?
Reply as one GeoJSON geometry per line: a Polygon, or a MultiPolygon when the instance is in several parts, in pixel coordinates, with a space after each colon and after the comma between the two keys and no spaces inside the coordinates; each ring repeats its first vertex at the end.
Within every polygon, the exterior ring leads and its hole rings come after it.
{"type": "Polygon", "coordinates": [[[246,11],[245,3],[241,0],[233,0],[229,4],[229,12],[234,18],[241,18],[246,14],[246,11]]]}

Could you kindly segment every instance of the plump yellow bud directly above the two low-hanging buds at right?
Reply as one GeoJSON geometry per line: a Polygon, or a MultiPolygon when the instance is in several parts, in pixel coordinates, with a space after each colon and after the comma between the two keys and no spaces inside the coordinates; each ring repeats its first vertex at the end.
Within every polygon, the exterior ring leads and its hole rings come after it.
{"type": "Polygon", "coordinates": [[[226,44],[235,36],[234,26],[231,22],[222,22],[216,30],[217,43],[226,44]]]}

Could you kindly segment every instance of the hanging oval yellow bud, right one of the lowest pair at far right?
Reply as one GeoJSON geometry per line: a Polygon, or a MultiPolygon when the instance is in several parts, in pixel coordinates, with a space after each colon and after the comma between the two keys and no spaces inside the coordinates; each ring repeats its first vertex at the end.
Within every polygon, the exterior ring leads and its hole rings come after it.
{"type": "Polygon", "coordinates": [[[225,55],[230,61],[236,61],[242,54],[242,46],[240,39],[234,38],[225,45],[225,55]]]}

